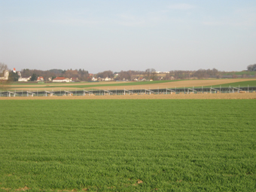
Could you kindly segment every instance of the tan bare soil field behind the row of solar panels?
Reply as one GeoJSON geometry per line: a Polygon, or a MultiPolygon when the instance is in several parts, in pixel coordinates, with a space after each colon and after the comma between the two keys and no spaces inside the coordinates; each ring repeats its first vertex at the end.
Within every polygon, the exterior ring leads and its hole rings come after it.
{"type": "MultiPolygon", "coordinates": [[[[126,82],[123,82],[121,86],[104,86],[104,84],[119,84],[121,82],[111,81],[111,82],[97,82],[97,83],[84,83],[84,84],[53,84],[53,86],[59,87],[41,87],[41,85],[36,85],[37,88],[15,88],[15,90],[139,90],[139,89],[164,89],[164,88],[175,88],[175,87],[201,87],[201,86],[211,86],[211,85],[218,85],[218,84],[230,84],[234,82],[242,82],[242,81],[255,81],[256,79],[212,79],[212,80],[187,80],[187,81],[171,81],[167,83],[157,83],[157,84],[142,84],[142,85],[126,85],[126,82]],[[90,87],[90,88],[73,88],[73,87],[66,87],[67,85],[99,85],[102,84],[100,87],[90,87]]],[[[30,85],[29,85],[30,86],[30,85]]],[[[26,86],[26,87],[29,87],[26,86]]],[[[14,86],[13,86],[14,87],[14,86]]],[[[31,86],[33,87],[33,86],[31,86]]],[[[35,85],[34,85],[35,87],[35,85]]],[[[11,87],[10,87],[11,88],[11,87]]]]}

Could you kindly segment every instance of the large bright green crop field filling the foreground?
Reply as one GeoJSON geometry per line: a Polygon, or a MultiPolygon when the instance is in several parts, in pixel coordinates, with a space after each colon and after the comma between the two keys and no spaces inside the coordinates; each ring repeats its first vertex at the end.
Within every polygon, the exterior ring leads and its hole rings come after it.
{"type": "Polygon", "coordinates": [[[256,190],[254,99],[0,106],[2,191],[256,190]]]}

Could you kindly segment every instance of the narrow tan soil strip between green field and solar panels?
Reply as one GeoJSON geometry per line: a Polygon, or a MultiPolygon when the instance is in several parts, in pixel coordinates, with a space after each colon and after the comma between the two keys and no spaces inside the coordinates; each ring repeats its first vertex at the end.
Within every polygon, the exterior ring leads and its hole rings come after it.
{"type": "Polygon", "coordinates": [[[23,96],[0,97],[0,100],[23,99],[256,99],[256,93],[198,93],[163,95],[125,95],[125,96],[23,96]]]}

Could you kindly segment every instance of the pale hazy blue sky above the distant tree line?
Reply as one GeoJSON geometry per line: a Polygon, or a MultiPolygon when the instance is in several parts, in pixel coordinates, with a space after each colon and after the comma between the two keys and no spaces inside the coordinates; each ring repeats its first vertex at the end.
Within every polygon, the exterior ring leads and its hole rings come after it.
{"type": "Polygon", "coordinates": [[[9,69],[218,69],[256,63],[255,0],[0,0],[9,69]]]}

